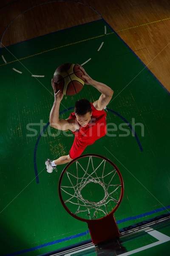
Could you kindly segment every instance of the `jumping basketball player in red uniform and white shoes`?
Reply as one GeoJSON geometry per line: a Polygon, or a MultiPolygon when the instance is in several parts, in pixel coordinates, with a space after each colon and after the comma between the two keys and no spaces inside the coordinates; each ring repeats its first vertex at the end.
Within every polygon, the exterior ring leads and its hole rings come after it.
{"type": "Polygon", "coordinates": [[[50,126],[58,130],[70,130],[74,137],[74,143],[68,155],[59,157],[51,161],[45,161],[47,172],[51,173],[57,165],[69,163],[76,157],[79,157],[88,145],[93,144],[99,138],[106,134],[106,112],[103,110],[110,102],[113,96],[113,90],[106,84],[93,80],[85,72],[84,68],[79,66],[84,73],[85,84],[95,87],[100,93],[100,97],[91,103],[87,99],[80,99],[75,103],[74,112],[67,119],[59,119],[59,105],[63,94],[59,90],[55,93],[54,82],[54,104],[50,112],[50,126]]]}

